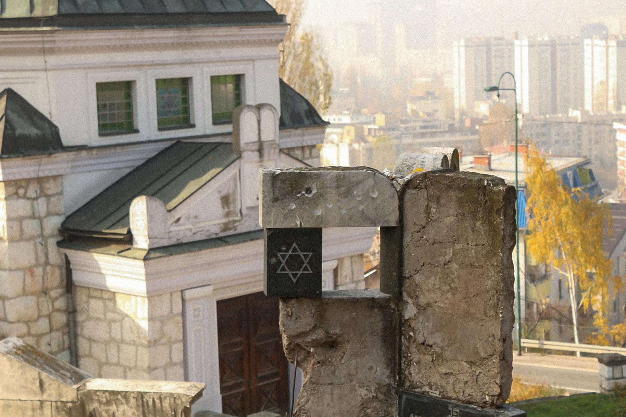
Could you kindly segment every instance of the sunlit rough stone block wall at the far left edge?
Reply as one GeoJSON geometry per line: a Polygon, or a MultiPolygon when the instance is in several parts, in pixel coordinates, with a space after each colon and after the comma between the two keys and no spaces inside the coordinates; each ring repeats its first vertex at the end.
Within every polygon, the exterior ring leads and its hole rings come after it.
{"type": "Polygon", "coordinates": [[[69,360],[60,176],[0,182],[0,339],[69,360]]]}

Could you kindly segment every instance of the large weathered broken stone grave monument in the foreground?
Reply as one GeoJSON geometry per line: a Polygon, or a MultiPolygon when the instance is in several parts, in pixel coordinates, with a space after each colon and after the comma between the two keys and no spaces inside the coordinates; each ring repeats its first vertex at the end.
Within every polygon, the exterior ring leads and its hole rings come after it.
{"type": "Polygon", "coordinates": [[[294,416],[525,416],[503,406],[515,189],[439,168],[448,155],[404,157],[395,181],[369,168],[262,170],[267,248],[272,230],[381,227],[381,291],[281,299],[285,353],[304,375],[294,416]]]}

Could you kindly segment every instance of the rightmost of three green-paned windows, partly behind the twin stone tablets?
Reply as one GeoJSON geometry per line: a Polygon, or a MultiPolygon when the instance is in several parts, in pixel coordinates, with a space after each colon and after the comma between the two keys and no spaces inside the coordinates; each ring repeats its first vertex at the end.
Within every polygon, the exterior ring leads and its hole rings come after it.
{"type": "Polygon", "coordinates": [[[213,125],[232,123],[233,111],[243,103],[242,75],[211,77],[211,106],[213,125]]]}

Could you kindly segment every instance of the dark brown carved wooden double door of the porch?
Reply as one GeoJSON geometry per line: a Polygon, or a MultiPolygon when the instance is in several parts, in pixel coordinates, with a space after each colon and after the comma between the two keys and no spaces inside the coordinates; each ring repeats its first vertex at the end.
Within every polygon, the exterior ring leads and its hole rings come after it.
{"type": "Polygon", "coordinates": [[[279,299],[262,292],[217,302],[222,412],[284,415],[289,406],[287,358],[279,330],[279,299]]]}

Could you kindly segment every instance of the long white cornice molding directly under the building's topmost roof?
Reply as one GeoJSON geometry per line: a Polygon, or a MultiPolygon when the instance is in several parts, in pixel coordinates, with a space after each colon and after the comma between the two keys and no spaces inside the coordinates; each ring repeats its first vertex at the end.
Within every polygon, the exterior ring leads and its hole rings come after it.
{"type": "Polygon", "coordinates": [[[90,31],[48,31],[39,33],[5,32],[0,36],[0,51],[41,53],[46,51],[95,51],[103,49],[180,48],[219,44],[276,44],[287,33],[287,25],[208,26],[188,28],[110,29],[90,31]]]}

